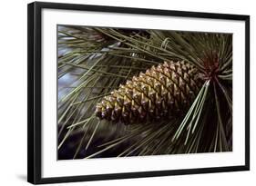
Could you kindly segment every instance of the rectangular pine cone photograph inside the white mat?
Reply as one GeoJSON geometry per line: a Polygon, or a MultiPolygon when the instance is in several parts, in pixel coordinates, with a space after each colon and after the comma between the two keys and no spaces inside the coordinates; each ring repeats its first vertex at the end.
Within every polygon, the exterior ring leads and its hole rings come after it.
{"type": "Polygon", "coordinates": [[[232,152],[232,33],[57,24],[56,38],[57,160],[232,152]]]}

